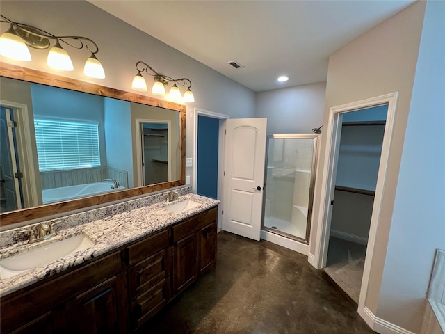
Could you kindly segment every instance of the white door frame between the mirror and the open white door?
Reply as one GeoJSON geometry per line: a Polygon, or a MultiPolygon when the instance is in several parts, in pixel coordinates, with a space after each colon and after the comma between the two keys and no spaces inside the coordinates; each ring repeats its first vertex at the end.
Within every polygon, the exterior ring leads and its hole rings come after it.
{"type": "MultiPolygon", "coordinates": [[[[224,152],[225,152],[225,120],[230,118],[229,115],[224,113],[214,113],[200,108],[193,109],[193,193],[197,192],[197,119],[198,116],[205,116],[210,118],[216,118],[220,120],[219,134],[218,134],[218,186],[216,190],[216,199],[220,202],[223,201],[223,177],[224,177],[224,152]]],[[[223,219],[223,205],[218,205],[218,229],[222,226],[223,219]]]]}

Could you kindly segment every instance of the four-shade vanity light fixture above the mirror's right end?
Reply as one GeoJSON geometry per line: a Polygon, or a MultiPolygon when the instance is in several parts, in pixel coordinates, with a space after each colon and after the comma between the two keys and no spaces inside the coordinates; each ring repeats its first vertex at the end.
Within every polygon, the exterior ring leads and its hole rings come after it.
{"type": "Polygon", "coordinates": [[[133,78],[133,83],[131,84],[131,89],[138,90],[140,92],[147,91],[147,83],[145,82],[144,77],[142,76],[142,72],[147,73],[148,75],[154,77],[154,84],[152,86],[152,94],[154,95],[165,95],[165,87],[169,82],[173,83],[172,88],[170,88],[170,93],[168,93],[168,98],[170,100],[175,100],[178,102],[195,102],[195,97],[193,96],[192,91],[190,90],[192,86],[192,82],[187,78],[181,79],[173,79],[172,77],[168,77],[167,75],[159,74],[155,70],[152,69],[147,63],[143,61],[138,61],[136,63],[136,70],[138,73],[133,78]],[[181,90],[179,90],[178,86],[185,86],[187,88],[184,96],[181,96],[181,90]]]}

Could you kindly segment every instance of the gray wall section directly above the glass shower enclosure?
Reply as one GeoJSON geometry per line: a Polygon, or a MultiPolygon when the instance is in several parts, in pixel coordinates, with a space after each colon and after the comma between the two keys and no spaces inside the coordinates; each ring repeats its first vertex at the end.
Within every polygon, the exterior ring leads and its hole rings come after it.
{"type": "Polygon", "coordinates": [[[257,93],[256,117],[267,118],[267,134],[309,134],[323,121],[325,82],[257,93]]]}

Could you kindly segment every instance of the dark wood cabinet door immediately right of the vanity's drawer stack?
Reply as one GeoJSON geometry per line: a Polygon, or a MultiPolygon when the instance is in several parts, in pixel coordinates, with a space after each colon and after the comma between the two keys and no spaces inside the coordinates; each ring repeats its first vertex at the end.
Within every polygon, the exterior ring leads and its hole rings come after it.
{"type": "Polygon", "coordinates": [[[197,278],[197,234],[192,233],[173,244],[173,291],[188,287],[197,278]]]}

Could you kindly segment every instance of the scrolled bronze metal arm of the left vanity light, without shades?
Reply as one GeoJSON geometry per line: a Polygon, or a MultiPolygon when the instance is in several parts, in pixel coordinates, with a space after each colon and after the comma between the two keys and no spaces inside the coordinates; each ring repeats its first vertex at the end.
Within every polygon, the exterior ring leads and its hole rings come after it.
{"type": "Polygon", "coordinates": [[[91,54],[94,55],[99,52],[99,47],[90,38],[83,36],[56,36],[40,28],[36,28],[35,26],[30,26],[29,24],[13,22],[3,15],[0,15],[0,17],[0,22],[9,23],[11,26],[13,26],[13,29],[17,35],[19,35],[24,40],[26,45],[29,45],[29,47],[33,47],[35,49],[48,49],[51,46],[49,40],[58,40],[59,42],[64,42],[66,45],[70,45],[70,47],[74,47],[75,49],[83,49],[83,47],[85,47],[91,52],[91,54]],[[69,40],[77,42],[78,45],[75,45],[69,40]],[[89,42],[94,48],[88,47],[85,41],[89,42]]]}

